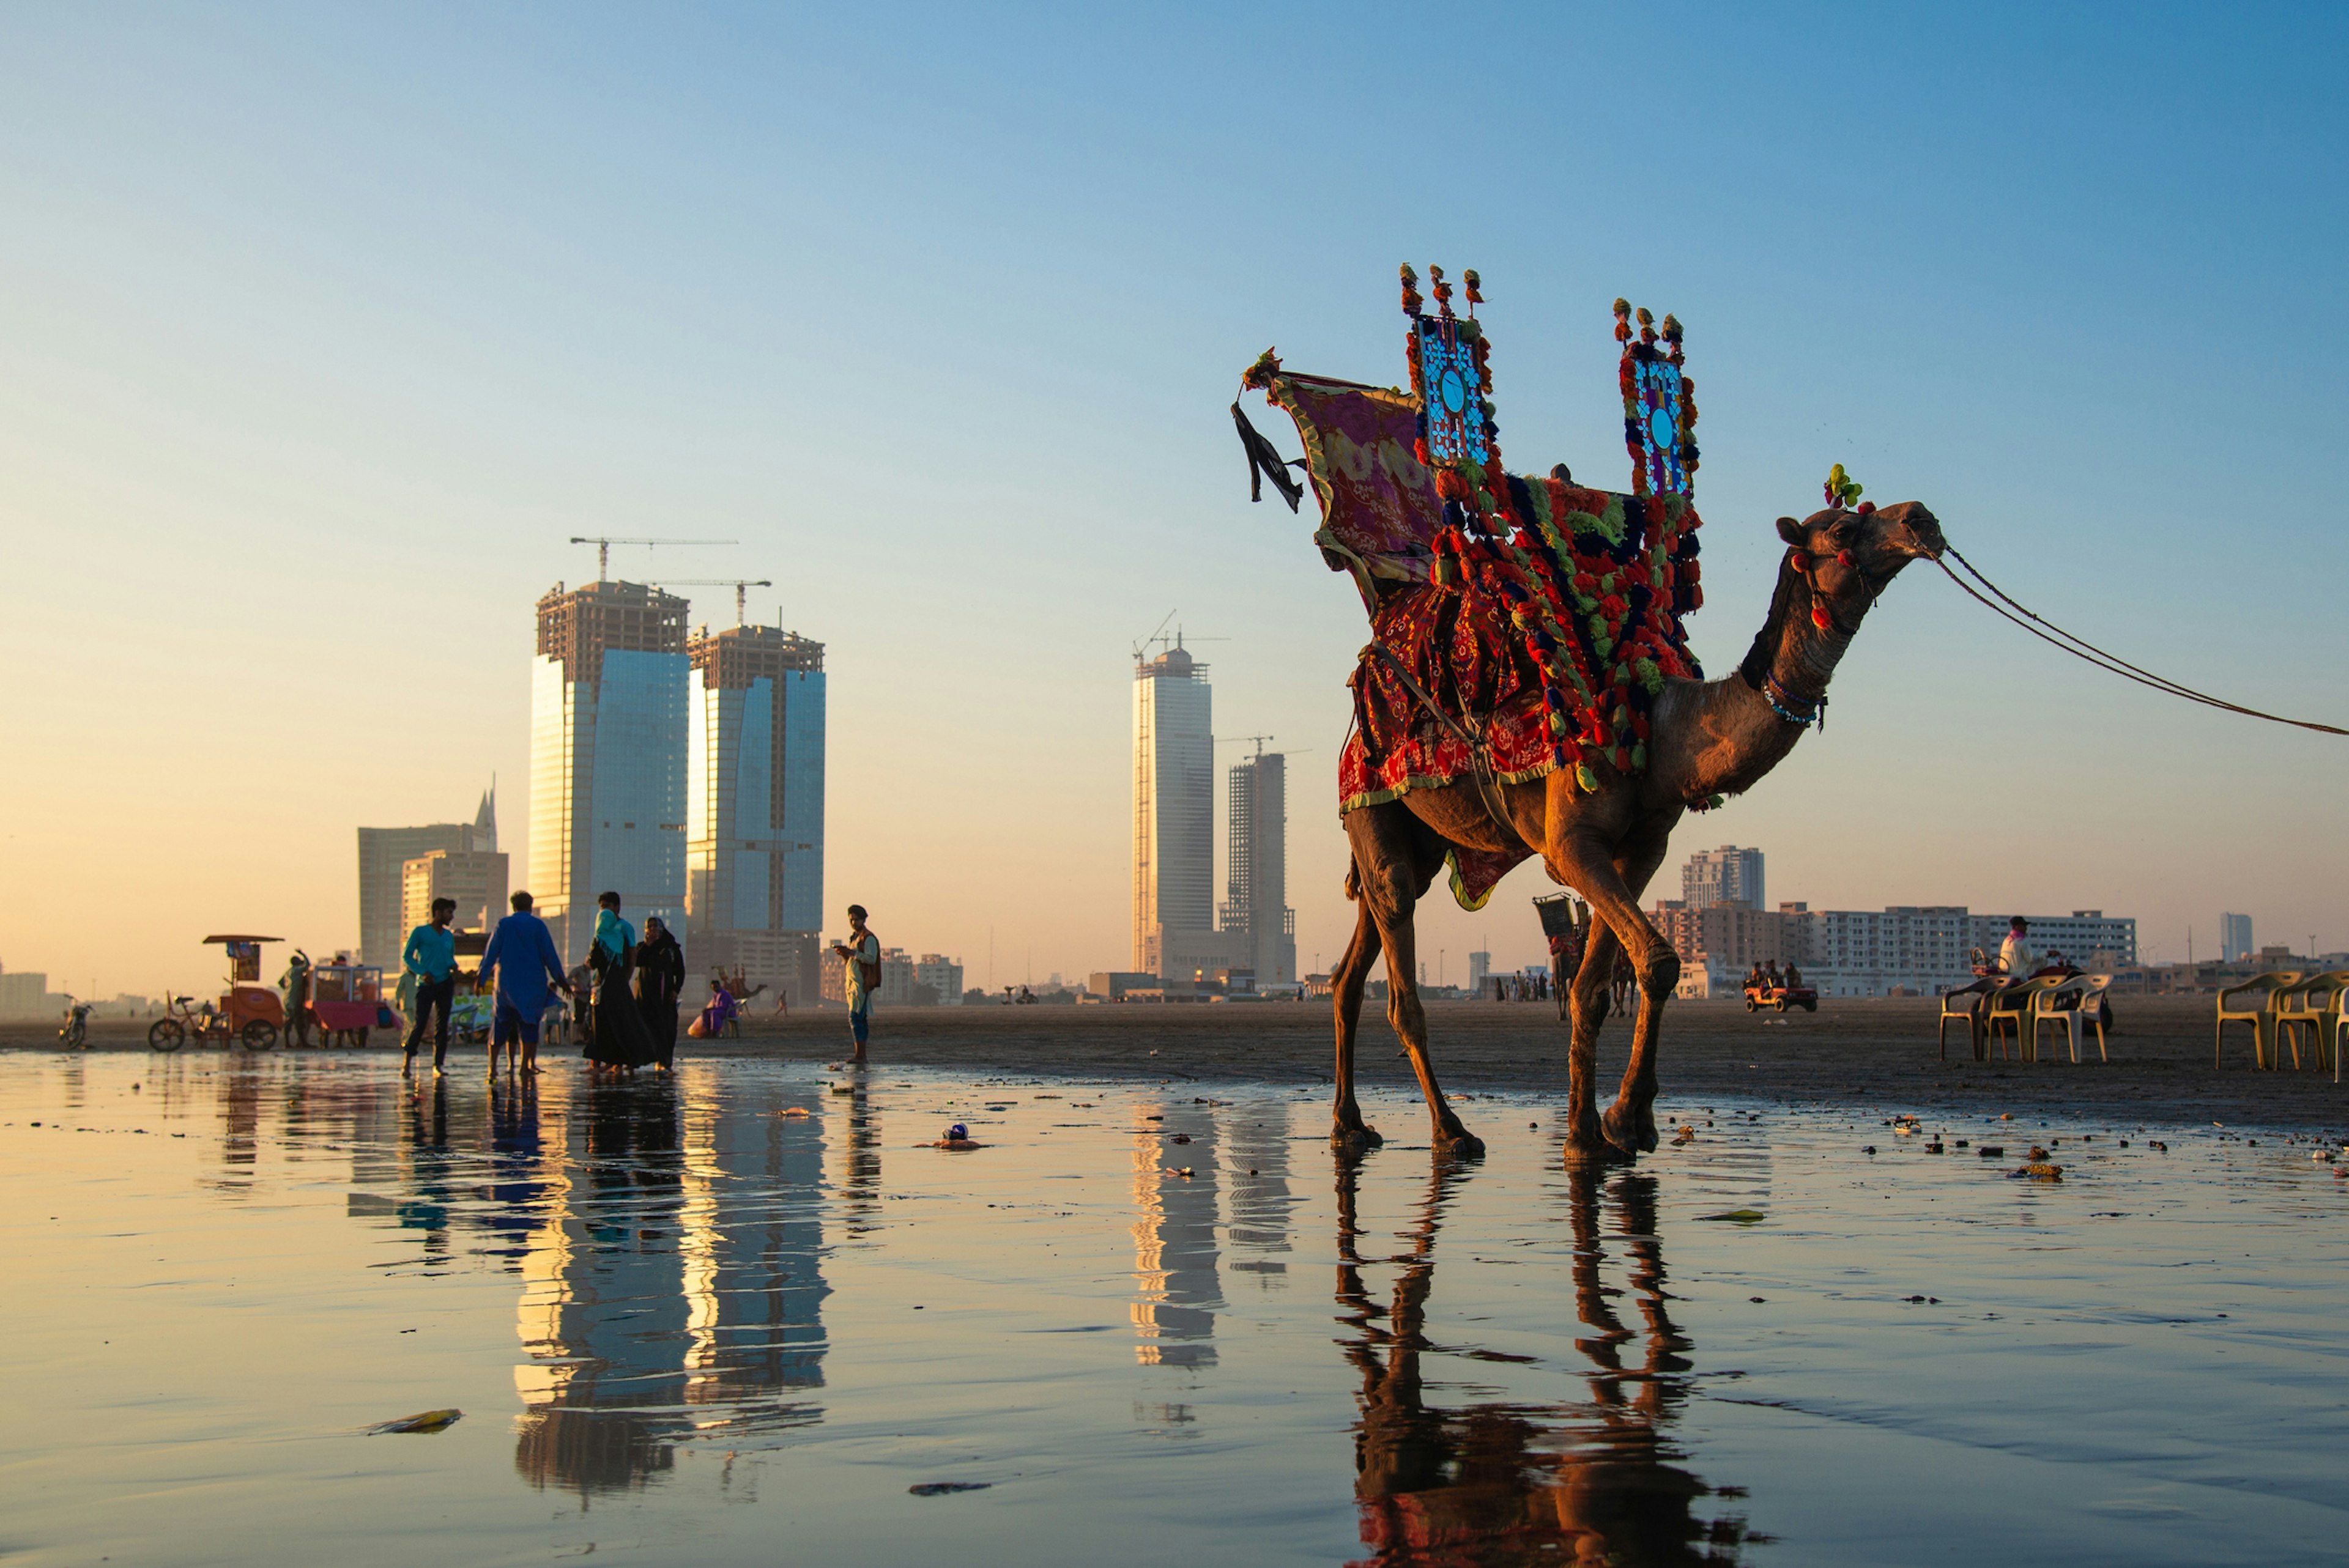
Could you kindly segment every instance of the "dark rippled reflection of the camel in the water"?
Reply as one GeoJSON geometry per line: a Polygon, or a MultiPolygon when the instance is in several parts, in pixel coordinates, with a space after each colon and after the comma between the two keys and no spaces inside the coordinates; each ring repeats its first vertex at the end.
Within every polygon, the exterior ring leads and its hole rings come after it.
{"type": "Polygon", "coordinates": [[[1442,1209],[1466,1169],[1438,1157],[1419,1223],[1402,1237],[1409,1249],[1369,1261],[1360,1253],[1358,1176],[1360,1157],[1339,1157],[1337,1305],[1351,1329],[1341,1340],[1346,1359],[1362,1373],[1355,1505],[1362,1542],[1374,1552],[1355,1568],[1734,1563],[1743,1542],[1762,1540],[1741,1519],[1698,1519],[1701,1498],[1738,1493],[1715,1493],[1670,1462],[1680,1455],[1665,1432],[1687,1399],[1689,1340],[1668,1310],[1651,1178],[1567,1171],[1574,1300],[1588,1329],[1574,1347],[1590,1364],[1590,1399],[1440,1408],[1426,1399],[1421,1357],[1449,1350],[1428,1340],[1428,1296],[1442,1209]],[[1623,1291],[1607,1284],[1602,1214],[1621,1246],[1640,1329],[1628,1329],[1614,1307],[1623,1291]],[[1400,1268],[1386,1307],[1362,1282],[1365,1265],[1377,1263],[1400,1268]],[[1626,1366],[1635,1343],[1635,1364],[1626,1366]]]}

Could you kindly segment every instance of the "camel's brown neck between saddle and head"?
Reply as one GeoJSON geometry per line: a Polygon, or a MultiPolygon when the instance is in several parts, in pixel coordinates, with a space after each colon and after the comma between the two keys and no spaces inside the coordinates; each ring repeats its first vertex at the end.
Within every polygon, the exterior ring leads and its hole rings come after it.
{"type": "Polygon", "coordinates": [[[1816,714],[1851,638],[1811,622],[1811,592],[1799,577],[1781,603],[1776,636],[1755,638],[1755,655],[1766,641],[1776,643],[1766,664],[1748,657],[1745,669],[1724,681],[1672,681],[1656,697],[1654,786],[1684,803],[1734,796],[1752,789],[1802,739],[1806,725],[1783,718],[1771,699],[1795,714],[1816,714]],[[1755,667],[1771,676],[1762,688],[1745,678],[1755,667]]]}

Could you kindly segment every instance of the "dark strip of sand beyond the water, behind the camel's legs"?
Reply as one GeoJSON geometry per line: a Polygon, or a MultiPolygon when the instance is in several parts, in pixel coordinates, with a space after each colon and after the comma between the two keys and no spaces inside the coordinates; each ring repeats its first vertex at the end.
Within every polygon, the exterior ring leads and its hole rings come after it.
{"type": "MultiPolygon", "coordinates": [[[[2229,1026],[2227,1066],[2213,1070],[2210,998],[2121,998],[2112,1061],[1973,1061],[1950,1030],[1950,1061],[1933,1049],[1929,998],[1828,1000],[1818,1014],[1748,1014],[1738,1002],[1672,1002],[1665,1012],[1661,1113],[1705,1096],[1785,1103],[1867,1101],[1893,1110],[2039,1113],[2135,1122],[2349,1129],[2349,1087],[2330,1073],[2253,1073],[2250,1030],[2229,1026]]],[[[1447,1089],[1564,1094],[1564,1026],[1543,1002],[1431,1002],[1435,1068],[1447,1089]]],[[[146,1049],[146,1021],[103,1021],[96,1049],[146,1049]]],[[[54,1026],[0,1026],[0,1049],[54,1049],[54,1026]]],[[[1630,1028],[1609,1019],[1600,1038],[1600,1084],[1611,1091],[1630,1028]]],[[[218,1047],[209,1047],[218,1049],[218,1047]]],[[[679,1042],[686,1056],[836,1061],[848,1016],[801,1012],[754,1019],[742,1040],[679,1042]]],[[[195,1054],[186,1047],[183,1054],[195,1054]]],[[[2046,1035],[2046,1054],[2062,1052],[2046,1035]]],[[[369,1054],[390,1054],[381,1045],[369,1054]]],[[[456,1052],[470,1061],[479,1047],[456,1052]]],[[[552,1047],[550,1066],[576,1056],[552,1047]]],[[[874,1019],[874,1061],[963,1073],[1055,1073],[1113,1080],[1330,1082],[1332,1023],[1325,1002],[1109,1005],[1109,1007],[902,1007],[874,1019]]],[[[2286,1056],[2290,1063],[2290,1056],[2286,1056]]],[[[1384,1009],[1365,1007],[1358,1047],[1365,1087],[1409,1082],[1409,1063],[1384,1009]]],[[[1473,1115],[1468,1117],[1475,1120],[1473,1115]]]]}

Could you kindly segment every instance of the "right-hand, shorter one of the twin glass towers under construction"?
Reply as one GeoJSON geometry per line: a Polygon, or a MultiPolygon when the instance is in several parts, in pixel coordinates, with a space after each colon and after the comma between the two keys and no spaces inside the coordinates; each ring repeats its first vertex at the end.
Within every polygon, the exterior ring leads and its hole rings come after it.
{"type": "Polygon", "coordinates": [[[813,1005],[824,922],[824,646],[700,631],[686,810],[686,955],[813,1005]]]}

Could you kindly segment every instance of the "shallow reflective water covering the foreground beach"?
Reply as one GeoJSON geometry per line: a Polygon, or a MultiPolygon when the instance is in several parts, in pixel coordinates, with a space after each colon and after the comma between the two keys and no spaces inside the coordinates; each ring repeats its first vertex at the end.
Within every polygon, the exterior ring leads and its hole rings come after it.
{"type": "Polygon", "coordinates": [[[0,1559],[2337,1552],[2307,1143],[1712,1101],[1581,1176],[1546,1101],[1466,1101],[1456,1167],[1367,1108],[1339,1162],[1245,1084],[14,1056],[0,1559]]]}

